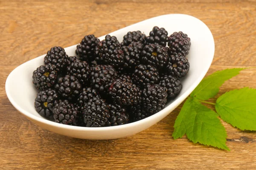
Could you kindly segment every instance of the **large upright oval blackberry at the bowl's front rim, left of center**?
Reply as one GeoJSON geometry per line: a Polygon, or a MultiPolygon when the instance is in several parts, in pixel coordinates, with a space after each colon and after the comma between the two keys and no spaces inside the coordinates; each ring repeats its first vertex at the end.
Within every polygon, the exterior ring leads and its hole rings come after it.
{"type": "Polygon", "coordinates": [[[87,127],[104,127],[110,116],[108,105],[103,99],[93,97],[85,105],[83,116],[87,127]]]}

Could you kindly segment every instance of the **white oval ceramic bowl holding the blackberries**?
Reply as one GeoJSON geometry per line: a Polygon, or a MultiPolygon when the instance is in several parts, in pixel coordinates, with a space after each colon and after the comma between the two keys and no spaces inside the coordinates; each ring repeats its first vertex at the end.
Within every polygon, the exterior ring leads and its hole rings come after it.
{"type": "MultiPolygon", "coordinates": [[[[48,121],[41,117],[34,108],[37,91],[32,84],[32,72],[43,65],[44,55],[18,66],[6,79],[6,94],[12,105],[27,119],[49,131],[81,139],[116,139],[139,133],[159,122],[171,113],[195,89],[207,73],[214,56],[214,40],[209,28],[195,17],[185,14],[168,14],[144,20],[140,23],[110,33],[122,42],[128,31],[141,30],[146,35],[154,26],[164,27],[169,35],[175,31],[183,31],[191,38],[188,55],[189,74],[182,80],[183,88],[175,100],[166,104],[162,111],[138,122],[114,127],[76,127],[48,121]],[[175,23],[175,24],[174,24],[175,23]]],[[[105,36],[99,37],[103,40],[105,36]]],[[[65,48],[69,56],[74,56],[76,45],[65,48]]]]}

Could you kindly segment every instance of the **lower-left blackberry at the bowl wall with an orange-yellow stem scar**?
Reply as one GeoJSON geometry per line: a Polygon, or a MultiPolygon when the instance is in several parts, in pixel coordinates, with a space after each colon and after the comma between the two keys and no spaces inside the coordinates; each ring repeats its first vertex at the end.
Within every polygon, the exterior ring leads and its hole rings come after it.
{"type": "Polygon", "coordinates": [[[53,119],[52,109],[56,100],[58,100],[58,94],[54,90],[40,91],[35,97],[35,110],[42,117],[53,119]]]}

